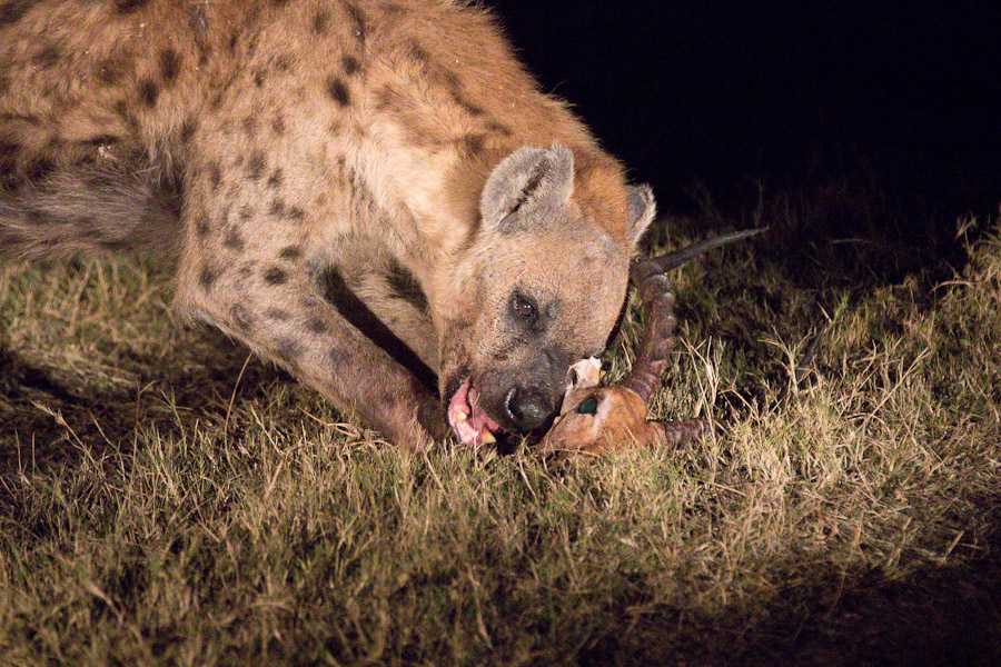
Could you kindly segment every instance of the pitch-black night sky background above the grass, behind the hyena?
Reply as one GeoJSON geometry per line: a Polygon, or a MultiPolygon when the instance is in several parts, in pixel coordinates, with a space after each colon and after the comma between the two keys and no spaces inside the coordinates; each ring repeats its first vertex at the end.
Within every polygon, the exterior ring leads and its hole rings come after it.
{"type": "Polygon", "coordinates": [[[1001,202],[1001,2],[493,0],[523,60],[691,209],[843,173],[952,217],[1001,202]]]}

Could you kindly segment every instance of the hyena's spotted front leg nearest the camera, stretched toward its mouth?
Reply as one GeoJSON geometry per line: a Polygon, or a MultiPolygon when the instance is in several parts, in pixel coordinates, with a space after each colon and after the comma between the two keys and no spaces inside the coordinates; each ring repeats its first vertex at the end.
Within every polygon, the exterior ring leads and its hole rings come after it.
{"type": "Polygon", "coordinates": [[[448,435],[437,399],[317,291],[304,232],[244,205],[234,222],[189,216],[178,279],[184,311],[219,327],[393,442],[448,435]]]}

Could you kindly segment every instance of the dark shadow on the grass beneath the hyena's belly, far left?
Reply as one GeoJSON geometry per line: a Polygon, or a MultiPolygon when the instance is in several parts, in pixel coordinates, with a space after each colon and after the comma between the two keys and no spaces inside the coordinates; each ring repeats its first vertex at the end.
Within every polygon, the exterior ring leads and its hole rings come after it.
{"type": "MultiPolygon", "coordinates": [[[[103,447],[128,451],[140,431],[153,428],[169,438],[199,422],[221,431],[230,402],[262,399],[275,382],[290,380],[257,357],[248,360],[247,349],[221,334],[205,331],[200,338],[212,356],[195,364],[165,368],[162,359],[132,355],[129,365],[138,377],[128,390],[62,379],[0,347],[0,474],[19,466],[71,465],[83,444],[95,457],[103,447]]],[[[230,436],[241,429],[237,420],[228,425],[230,436]]]]}

